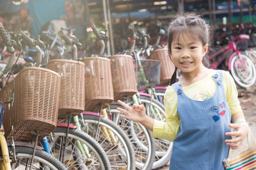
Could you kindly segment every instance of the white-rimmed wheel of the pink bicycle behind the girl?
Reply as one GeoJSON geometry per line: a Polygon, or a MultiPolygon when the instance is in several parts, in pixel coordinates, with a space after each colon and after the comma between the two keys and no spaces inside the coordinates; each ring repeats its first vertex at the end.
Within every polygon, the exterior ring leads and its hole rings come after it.
{"type": "Polygon", "coordinates": [[[230,63],[230,73],[235,82],[243,88],[251,87],[256,80],[256,69],[249,57],[241,54],[234,56],[230,63]]]}

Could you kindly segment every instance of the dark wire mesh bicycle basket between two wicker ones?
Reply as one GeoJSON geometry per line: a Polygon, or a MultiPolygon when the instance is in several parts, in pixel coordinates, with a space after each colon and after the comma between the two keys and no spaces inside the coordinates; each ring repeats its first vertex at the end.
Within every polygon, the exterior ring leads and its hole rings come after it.
{"type": "Polygon", "coordinates": [[[160,60],[143,59],[140,63],[135,63],[134,66],[138,90],[158,86],[160,84],[160,60]]]}

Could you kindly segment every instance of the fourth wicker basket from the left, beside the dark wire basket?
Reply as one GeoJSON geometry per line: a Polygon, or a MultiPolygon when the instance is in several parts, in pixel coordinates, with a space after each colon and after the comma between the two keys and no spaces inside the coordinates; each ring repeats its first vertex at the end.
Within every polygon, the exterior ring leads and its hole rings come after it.
{"type": "Polygon", "coordinates": [[[111,63],[114,101],[136,94],[137,85],[133,57],[119,54],[110,56],[109,59],[111,63]]]}

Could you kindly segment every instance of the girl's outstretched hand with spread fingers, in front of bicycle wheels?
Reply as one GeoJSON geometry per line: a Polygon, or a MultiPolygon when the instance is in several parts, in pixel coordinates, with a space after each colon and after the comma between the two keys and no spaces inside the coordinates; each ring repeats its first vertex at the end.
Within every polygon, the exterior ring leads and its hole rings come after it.
{"type": "Polygon", "coordinates": [[[121,117],[127,118],[131,121],[138,122],[142,124],[148,130],[153,130],[154,119],[146,115],[146,109],[143,104],[133,104],[133,107],[129,107],[129,105],[123,103],[118,100],[117,103],[121,104],[125,109],[117,108],[118,111],[124,113],[120,114],[121,117]]]}

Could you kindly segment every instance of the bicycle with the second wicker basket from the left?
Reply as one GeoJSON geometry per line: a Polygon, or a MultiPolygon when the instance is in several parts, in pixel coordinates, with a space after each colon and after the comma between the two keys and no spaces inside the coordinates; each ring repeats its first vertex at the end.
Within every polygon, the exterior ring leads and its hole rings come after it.
{"type": "MultiPolygon", "coordinates": [[[[49,138],[49,152],[62,159],[65,167],[72,169],[110,169],[110,162],[98,142],[81,131],[78,115],[84,111],[84,63],[77,60],[77,46],[80,42],[75,36],[67,36],[59,31],[65,44],[73,47],[73,61],[67,59],[52,59],[47,67],[61,75],[61,91],[58,118],[65,118],[67,124],[57,127],[49,138]],[[75,76],[75,78],[73,78],[75,76]],[[79,92],[79,94],[77,93],[79,92]],[[75,122],[76,129],[71,128],[75,122]],[[65,138],[65,140],[64,140],[65,138]],[[62,147],[64,146],[64,150],[62,147]]],[[[57,125],[58,126],[58,125],[57,125]]],[[[44,145],[47,145],[44,144],[44,145]]]]}

